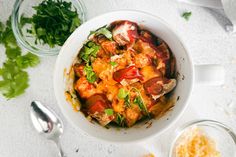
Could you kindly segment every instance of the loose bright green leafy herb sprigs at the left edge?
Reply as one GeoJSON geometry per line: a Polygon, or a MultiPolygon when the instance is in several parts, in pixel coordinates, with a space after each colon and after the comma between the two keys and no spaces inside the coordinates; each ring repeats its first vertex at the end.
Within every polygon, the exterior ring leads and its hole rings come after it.
{"type": "Polygon", "coordinates": [[[6,27],[0,24],[0,43],[6,48],[6,61],[0,68],[0,92],[7,99],[17,97],[29,86],[29,76],[25,71],[39,63],[39,58],[31,53],[22,55],[11,29],[10,18],[6,27]]]}

